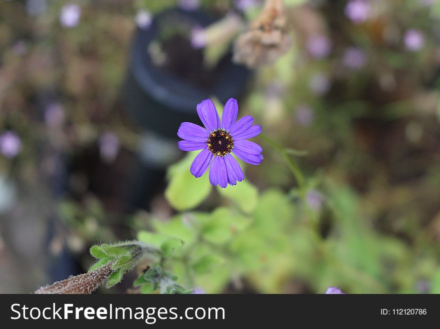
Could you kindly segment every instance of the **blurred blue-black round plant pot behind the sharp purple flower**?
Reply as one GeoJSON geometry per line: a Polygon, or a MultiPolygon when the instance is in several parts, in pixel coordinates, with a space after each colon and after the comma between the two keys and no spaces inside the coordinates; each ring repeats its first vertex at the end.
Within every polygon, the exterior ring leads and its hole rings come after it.
{"type": "Polygon", "coordinates": [[[230,53],[219,61],[209,86],[184,81],[172,72],[155,66],[147,54],[146,49],[158,38],[161,25],[204,27],[213,21],[203,12],[172,10],[158,15],[147,30],[135,31],[124,98],[131,118],[142,129],[163,137],[177,138],[181,122],[199,122],[195,107],[201,100],[214,96],[224,103],[243,91],[249,72],[232,63],[230,53]]]}

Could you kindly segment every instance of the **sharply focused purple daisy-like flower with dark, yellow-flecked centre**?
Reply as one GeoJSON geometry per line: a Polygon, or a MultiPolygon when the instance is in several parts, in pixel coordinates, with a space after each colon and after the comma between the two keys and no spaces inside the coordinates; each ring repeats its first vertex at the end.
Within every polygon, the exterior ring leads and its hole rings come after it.
{"type": "Polygon", "coordinates": [[[243,172],[232,156],[252,165],[261,163],[262,148],[247,138],[261,133],[261,126],[252,125],[253,118],[248,115],[237,122],[238,104],[229,98],[224,105],[221,121],[211,100],[206,99],[197,104],[197,114],[204,127],[190,122],[183,122],[177,136],[183,139],[178,147],[183,151],[200,153],[192,161],[189,171],[195,177],[202,176],[209,168],[209,182],[225,188],[227,184],[235,185],[244,179],[243,172]]]}

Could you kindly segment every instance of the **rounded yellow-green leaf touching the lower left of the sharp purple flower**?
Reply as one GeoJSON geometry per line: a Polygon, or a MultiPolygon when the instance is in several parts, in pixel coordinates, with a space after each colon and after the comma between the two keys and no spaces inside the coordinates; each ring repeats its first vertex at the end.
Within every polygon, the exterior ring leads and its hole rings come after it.
{"type": "Polygon", "coordinates": [[[189,172],[196,154],[197,152],[189,153],[168,170],[169,183],[165,189],[165,198],[174,209],[179,211],[198,206],[212,189],[208,175],[195,178],[189,172]]]}

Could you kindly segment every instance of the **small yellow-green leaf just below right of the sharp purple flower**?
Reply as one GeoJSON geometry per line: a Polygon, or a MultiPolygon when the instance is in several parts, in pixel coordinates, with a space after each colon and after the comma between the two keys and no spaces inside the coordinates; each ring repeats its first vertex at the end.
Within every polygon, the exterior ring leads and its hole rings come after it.
{"type": "Polygon", "coordinates": [[[238,182],[235,186],[218,188],[218,192],[234,202],[246,214],[251,213],[258,204],[258,191],[246,180],[238,182]]]}

